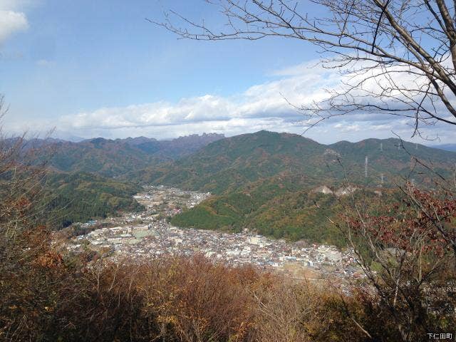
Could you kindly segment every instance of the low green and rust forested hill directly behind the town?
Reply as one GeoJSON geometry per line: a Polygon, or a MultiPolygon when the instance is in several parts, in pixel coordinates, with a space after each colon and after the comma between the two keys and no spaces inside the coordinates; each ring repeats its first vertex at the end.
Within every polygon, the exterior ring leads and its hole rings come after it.
{"type": "MultiPolygon", "coordinates": [[[[307,180],[286,173],[266,178],[227,195],[215,195],[172,217],[171,223],[178,227],[234,232],[248,228],[276,239],[306,239],[344,246],[341,232],[328,218],[336,220],[343,205],[351,202],[351,196],[316,192],[307,180]]],[[[395,195],[393,190],[382,191],[380,196],[378,190],[360,188],[353,196],[363,196],[376,203],[395,195]]]]}

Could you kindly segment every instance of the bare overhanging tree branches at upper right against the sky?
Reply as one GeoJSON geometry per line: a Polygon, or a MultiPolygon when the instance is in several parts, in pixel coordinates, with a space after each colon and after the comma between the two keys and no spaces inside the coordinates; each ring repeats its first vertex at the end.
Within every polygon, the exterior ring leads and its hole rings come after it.
{"type": "Polygon", "coordinates": [[[445,0],[218,0],[221,30],[175,11],[155,22],[183,38],[219,41],[293,38],[314,43],[340,88],[296,107],[311,125],[336,115],[386,113],[424,125],[456,125],[456,3],[445,0]],[[309,4],[325,16],[311,17],[309,4]],[[182,26],[180,26],[182,24],[182,26]]]}

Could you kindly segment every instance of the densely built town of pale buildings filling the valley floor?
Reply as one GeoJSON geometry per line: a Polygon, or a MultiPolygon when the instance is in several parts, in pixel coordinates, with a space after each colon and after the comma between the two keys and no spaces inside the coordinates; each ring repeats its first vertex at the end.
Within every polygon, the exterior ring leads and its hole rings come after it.
{"type": "Polygon", "coordinates": [[[68,249],[91,249],[109,259],[141,259],[163,256],[192,257],[202,254],[229,266],[254,266],[279,271],[294,278],[361,278],[353,252],[324,244],[287,242],[243,229],[217,232],[175,227],[170,218],[193,207],[209,193],[183,191],[173,187],[147,186],[135,198],[145,212],[124,214],[89,224],[107,225],[71,240],[68,249]]]}

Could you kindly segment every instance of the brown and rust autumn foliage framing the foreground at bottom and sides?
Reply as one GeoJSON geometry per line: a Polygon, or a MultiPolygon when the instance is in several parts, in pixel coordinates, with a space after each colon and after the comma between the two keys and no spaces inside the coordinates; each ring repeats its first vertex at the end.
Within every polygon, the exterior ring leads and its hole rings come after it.
{"type": "Polygon", "coordinates": [[[338,227],[366,279],[338,289],[199,255],[71,254],[40,224],[42,171],[15,162],[19,143],[0,147],[0,341],[423,341],[456,331],[453,192],[407,185],[396,201],[345,207],[338,227]]]}

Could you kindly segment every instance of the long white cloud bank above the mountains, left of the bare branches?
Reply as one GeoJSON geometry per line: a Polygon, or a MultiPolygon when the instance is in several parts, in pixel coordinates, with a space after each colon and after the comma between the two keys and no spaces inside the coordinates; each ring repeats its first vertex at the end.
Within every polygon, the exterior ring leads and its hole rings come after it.
{"type": "Polygon", "coordinates": [[[188,133],[216,132],[226,135],[254,130],[286,130],[302,133],[306,118],[290,103],[299,105],[327,96],[324,88],[337,81],[336,73],[311,64],[305,72],[255,85],[228,97],[206,94],[182,98],[176,103],[156,102],[123,108],[99,108],[65,115],[58,128],[81,136],[140,135],[171,138],[188,133]],[[312,65],[313,66],[313,65],[312,65]]]}

